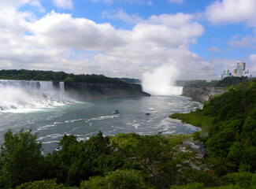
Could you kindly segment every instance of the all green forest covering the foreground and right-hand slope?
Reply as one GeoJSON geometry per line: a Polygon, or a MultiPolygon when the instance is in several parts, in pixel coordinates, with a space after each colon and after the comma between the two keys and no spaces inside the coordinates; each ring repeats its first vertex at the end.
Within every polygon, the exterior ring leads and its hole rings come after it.
{"type": "Polygon", "coordinates": [[[230,87],[203,109],[173,114],[202,128],[193,135],[64,135],[60,151],[43,156],[32,131],[6,132],[0,187],[9,188],[256,188],[256,80],[230,87]],[[206,158],[180,150],[193,138],[206,158]]]}

